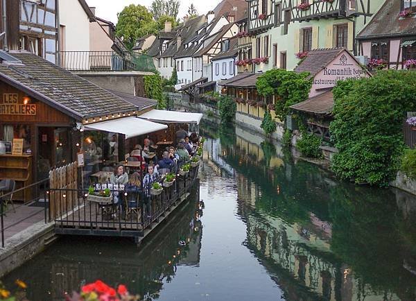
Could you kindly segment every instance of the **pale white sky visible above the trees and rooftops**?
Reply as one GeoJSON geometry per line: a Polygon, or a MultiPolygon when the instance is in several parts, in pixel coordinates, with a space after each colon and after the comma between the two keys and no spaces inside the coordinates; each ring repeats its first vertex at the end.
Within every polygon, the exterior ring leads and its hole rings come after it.
{"type": "MultiPolygon", "coordinates": [[[[89,6],[96,7],[96,16],[101,17],[114,24],[117,23],[117,12],[121,12],[125,6],[130,4],[140,4],[150,7],[153,0],[86,0],[89,6]]],[[[179,15],[180,19],[187,15],[187,11],[191,3],[196,7],[198,14],[206,14],[209,10],[213,10],[220,0],[180,0],[179,15]]]]}

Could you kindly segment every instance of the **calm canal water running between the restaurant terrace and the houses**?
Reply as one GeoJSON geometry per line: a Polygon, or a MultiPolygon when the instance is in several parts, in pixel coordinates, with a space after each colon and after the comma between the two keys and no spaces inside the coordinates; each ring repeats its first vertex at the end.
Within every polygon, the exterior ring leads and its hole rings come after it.
{"type": "Polygon", "coordinates": [[[23,279],[32,301],[95,279],[143,300],[416,300],[413,196],[338,182],[239,128],[204,128],[199,200],[144,246],[65,237],[3,282],[23,279]]]}

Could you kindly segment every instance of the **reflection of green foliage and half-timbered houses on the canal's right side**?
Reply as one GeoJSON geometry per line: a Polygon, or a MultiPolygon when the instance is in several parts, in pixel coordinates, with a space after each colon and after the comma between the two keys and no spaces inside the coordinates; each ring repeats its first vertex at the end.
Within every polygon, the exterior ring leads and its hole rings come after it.
{"type": "Polygon", "coordinates": [[[287,300],[416,300],[413,196],[337,182],[241,135],[220,133],[206,153],[236,173],[245,245],[287,300]]]}

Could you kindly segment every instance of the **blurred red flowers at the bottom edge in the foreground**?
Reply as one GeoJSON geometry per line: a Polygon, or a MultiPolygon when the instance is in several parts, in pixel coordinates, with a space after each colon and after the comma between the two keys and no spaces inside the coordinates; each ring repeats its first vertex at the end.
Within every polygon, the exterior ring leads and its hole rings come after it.
{"type": "Polygon", "coordinates": [[[94,283],[86,284],[81,288],[81,294],[73,293],[71,298],[67,298],[68,301],[135,301],[139,300],[138,297],[132,296],[128,293],[127,287],[120,284],[117,290],[108,286],[101,280],[97,280],[94,283]]]}

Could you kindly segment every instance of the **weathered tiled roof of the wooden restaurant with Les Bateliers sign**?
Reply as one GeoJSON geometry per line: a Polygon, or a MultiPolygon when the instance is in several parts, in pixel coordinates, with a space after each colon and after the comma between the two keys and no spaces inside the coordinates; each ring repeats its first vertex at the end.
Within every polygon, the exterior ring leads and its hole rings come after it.
{"type": "Polygon", "coordinates": [[[130,112],[137,107],[37,55],[10,51],[24,65],[0,64],[0,78],[66,114],[83,119],[130,112]]]}

